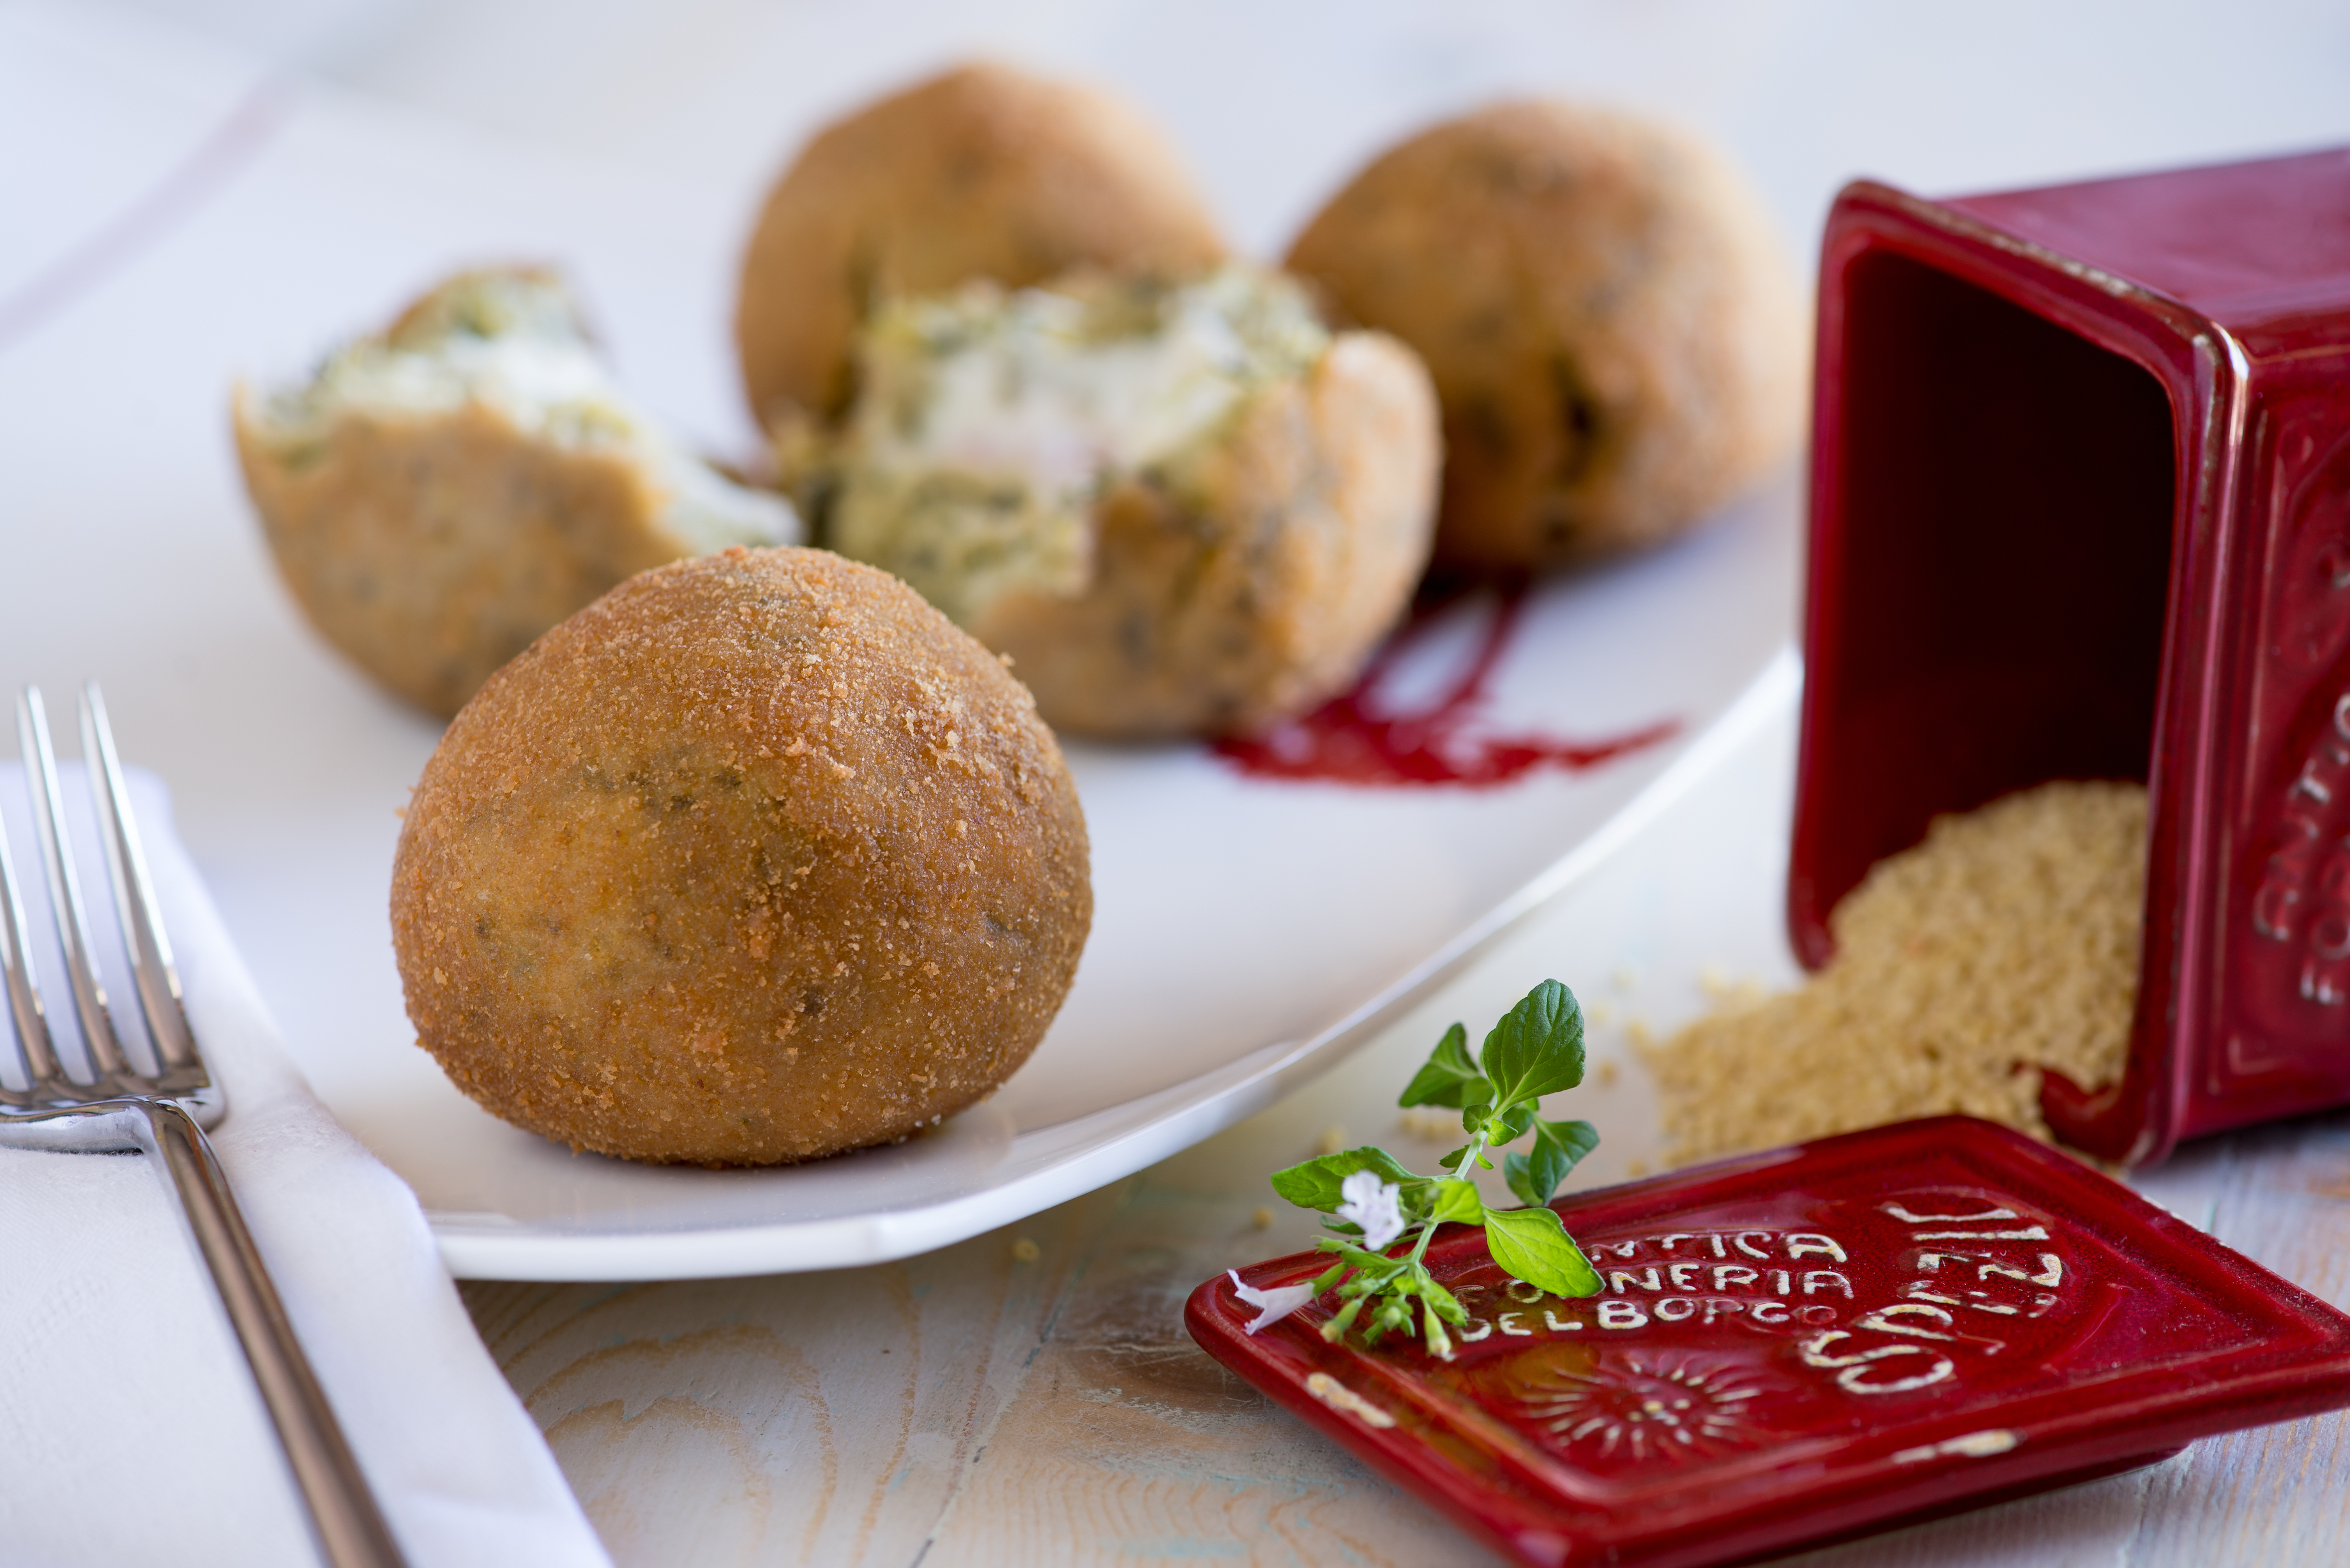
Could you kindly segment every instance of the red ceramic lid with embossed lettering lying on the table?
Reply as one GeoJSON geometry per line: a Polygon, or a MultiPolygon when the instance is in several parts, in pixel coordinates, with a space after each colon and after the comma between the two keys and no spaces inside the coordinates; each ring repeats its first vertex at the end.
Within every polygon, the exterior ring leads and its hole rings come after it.
{"type": "MultiPolygon", "coordinates": [[[[1607,1288],[1429,1265],[1473,1321],[1325,1345],[1323,1305],[1191,1338],[1525,1563],[1730,1563],[2350,1406],[2350,1316],[2016,1133],[1939,1117],[1553,1204],[1607,1288]]],[[[1300,1253],[1250,1286],[1311,1279],[1300,1253]]],[[[1328,1302],[1328,1298],[1325,1298],[1328,1302]]]]}

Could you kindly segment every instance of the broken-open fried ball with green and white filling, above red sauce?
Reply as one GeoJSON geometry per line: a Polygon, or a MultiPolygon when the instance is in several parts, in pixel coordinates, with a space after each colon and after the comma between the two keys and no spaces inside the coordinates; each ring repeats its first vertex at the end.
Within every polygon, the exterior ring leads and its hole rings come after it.
{"type": "Polygon", "coordinates": [[[825,543],[1013,656],[1058,729],[1264,729],[1344,689],[1436,512],[1436,397],[1384,334],[1227,263],[884,308],[825,543]]]}

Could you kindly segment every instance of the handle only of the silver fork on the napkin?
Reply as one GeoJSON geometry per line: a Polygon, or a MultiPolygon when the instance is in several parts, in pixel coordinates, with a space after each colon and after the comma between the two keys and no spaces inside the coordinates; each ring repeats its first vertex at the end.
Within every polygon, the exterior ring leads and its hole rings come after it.
{"type": "Polygon", "coordinates": [[[261,1401],[277,1425],[277,1441],[294,1467],[303,1502],[310,1507],[310,1526],[317,1544],[334,1568],[407,1568],[407,1556],[383,1523],[367,1476],[350,1458],[334,1406],[310,1371],[310,1359],[294,1338],[277,1288],[261,1253],[254,1251],[237,1199],[228,1192],[228,1175],[214,1159],[204,1128],[195,1124],[181,1105],[172,1100],[141,1100],[150,1152],[172,1175],[188,1229],[204,1253],[212,1281],[228,1307],[228,1321],[244,1345],[244,1359],[261,1385],[261,1401]]]}

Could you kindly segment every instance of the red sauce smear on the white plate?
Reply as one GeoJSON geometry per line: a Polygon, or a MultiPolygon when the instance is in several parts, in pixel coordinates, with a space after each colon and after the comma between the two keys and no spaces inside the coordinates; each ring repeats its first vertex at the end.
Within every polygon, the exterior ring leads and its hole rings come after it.
{"type": "Polygon", "coordinates": [[[1314,712],[1288,719],[1260,736],[1227,736],[1215,755],[1257,778],[1297,778],[1370,788],[1462,785],[1490,790],[1516,783],[1535,769],[1593,769],[1603,762],[1657,745],[1680,731],[1678,719],[1664,719],[1603,741],[1558,741],[1537,733],[1497,733],[1478,726],[1485,686],[1509,651],[1525,614],[1523,581],[1492,585],[1436,585],[1412,604],[1410,621],[1370,658],[1354,689],[1330,698],[1314,712]],[[1459,599],[1490,592],[1485,618],[1469,668],[1417,710],[1386,708],[1377,701],[1382,677],[1422,642],[1429,628],[1459,599]]]}

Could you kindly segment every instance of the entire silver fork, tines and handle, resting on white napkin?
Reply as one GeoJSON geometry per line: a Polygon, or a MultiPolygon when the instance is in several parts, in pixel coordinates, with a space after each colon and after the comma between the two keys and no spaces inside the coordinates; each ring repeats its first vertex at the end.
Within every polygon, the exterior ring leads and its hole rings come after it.
{"type": "Polygon", "coordinates": [[[160,1164],[221,1291],[221,1305],[228,1307],[254,1382],[261,1385],[261,1401],[277,1427],[277,1441],[310,1509],[322,1554],[334,1568],[404,1568],[407,1559],[392,1542],[383,1512],[350,1458],[343,1427],[334,1420],[310,1359],[294,1338],[277,1288],[261,1267],[261,1253],[254,1251],[244,1215],[228,1192],[221,1161],[204,1143],[204,1128],[219,1126],[228,1114],[228,1098],[204,1072],[204,1058],[181,1006],[179,969],[172,961],[155,886],[148,882],[139,823],[122,788],[122,764],[115,759],[115,738],[106,726],[106,701],[96,682],[82,689],[82,769],[89,773],[89,795],[106,844],[132,990],[139,994],[155,1056],[153,1072],[132,1063],[106,1011],[106,987],[99,980],[73,867],[73,839],[66,835],[66,806],[56,788],[49,719],[35,686],[26,686],[16,698],[16,741],[33,795],[49,912],[56,917],[66,954],[66,990],[82,1030],[89,1079],[68,1072],[49,1037],[49,1020],[33,983],[24,896],[7,851],[7,832],[0,830],[0,971],[14,1020],[16,1067],[26,1079],[26,1088],[0,1081],[0,1143],[75,1152],[141,1150],[160,1164]]]}

